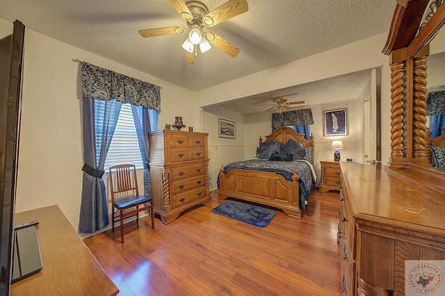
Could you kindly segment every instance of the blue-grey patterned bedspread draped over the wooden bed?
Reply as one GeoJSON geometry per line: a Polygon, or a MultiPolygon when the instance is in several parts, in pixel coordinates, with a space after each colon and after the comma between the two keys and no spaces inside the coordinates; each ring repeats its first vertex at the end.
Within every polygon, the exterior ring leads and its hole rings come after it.
{"type": "MultiPolygon", "coordinates": [[[[249,159],[238,162],[232,162],[224,167],[224,173],[234,168],[252,171],[268,171],[282,175],[286,180],[292,181],[293,171],[297,171],[300,180],[300,207],[303,211],[307,210],[309,195],[315,187],[315,176],[312,165],[303,160],[293,162],[271,162],[266,159],[249,159]]],[[[219,187],[219,175],[218,175],[219,187]]]]}

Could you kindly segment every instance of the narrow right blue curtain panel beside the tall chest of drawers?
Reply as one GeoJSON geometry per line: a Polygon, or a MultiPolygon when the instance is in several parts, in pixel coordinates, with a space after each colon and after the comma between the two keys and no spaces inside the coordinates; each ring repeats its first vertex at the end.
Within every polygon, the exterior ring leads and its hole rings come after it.
{"type": "Polygon", "coordinates": [[[148,132],[150,132],[152,128],[150,127],[149,112],[146,107],[137,107],[134,105],[131,105],[131,111],[133,112],[136,134],[138,134],[140,156],[144,164],[144,195],[152,196],[148,147],[148,132]]]}

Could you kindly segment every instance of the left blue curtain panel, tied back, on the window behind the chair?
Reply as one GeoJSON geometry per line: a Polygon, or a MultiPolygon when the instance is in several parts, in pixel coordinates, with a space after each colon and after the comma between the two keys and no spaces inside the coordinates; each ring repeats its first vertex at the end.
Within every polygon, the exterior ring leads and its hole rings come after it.
{"type": "Polygon", "coordinates": [[[108,225],[105,184],[102,179],[111,139],[122,103],[83,97],[83,182],[79,232],[92,233],[108,225]],[[100,114],[95,116],[95,114],[100,114]]]}

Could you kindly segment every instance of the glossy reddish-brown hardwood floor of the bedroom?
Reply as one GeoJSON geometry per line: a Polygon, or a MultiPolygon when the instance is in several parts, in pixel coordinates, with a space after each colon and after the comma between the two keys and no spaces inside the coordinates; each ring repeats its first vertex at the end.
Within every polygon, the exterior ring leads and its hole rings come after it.
{"type": "Polygon", "coordinates": [[[281,211],[264,228],[197,206],[163,225],[140,218],[83,241],[119,295],[341,295],[337,192],[309,198],[301,220],[281,211]]]}

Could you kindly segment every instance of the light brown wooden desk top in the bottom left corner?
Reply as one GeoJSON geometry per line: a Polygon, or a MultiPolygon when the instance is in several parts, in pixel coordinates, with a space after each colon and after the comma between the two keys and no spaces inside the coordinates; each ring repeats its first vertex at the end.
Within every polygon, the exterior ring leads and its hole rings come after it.
{"type": "Polygon", "coordinates": [[[119,289],[70,222],[54,205],[15,214],[14,224],[38,220],[43,268],[13,284],[10,295],[116,295],[119,289]]]}

